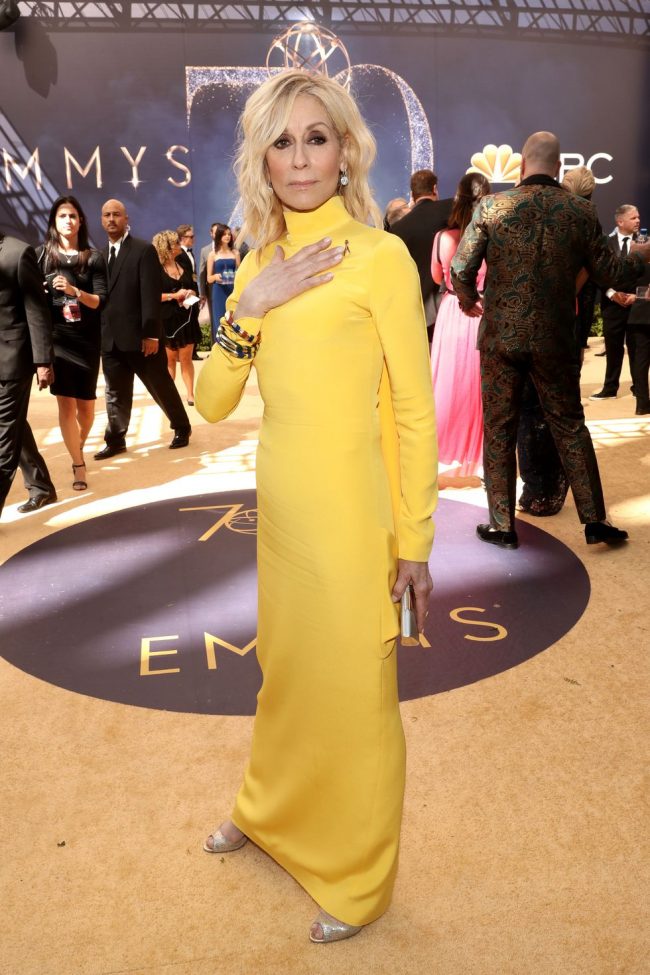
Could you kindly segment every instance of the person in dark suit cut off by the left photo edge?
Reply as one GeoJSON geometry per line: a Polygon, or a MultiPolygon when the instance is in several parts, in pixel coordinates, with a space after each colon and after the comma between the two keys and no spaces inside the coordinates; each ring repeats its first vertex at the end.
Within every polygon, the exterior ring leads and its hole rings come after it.
{"type": "Polygon", "coordinates": [[[18,467],[34,371],[39,389],[46,389],[54,380],[53,357],[36,254],[0,234],[0,512],[18,467]]]}

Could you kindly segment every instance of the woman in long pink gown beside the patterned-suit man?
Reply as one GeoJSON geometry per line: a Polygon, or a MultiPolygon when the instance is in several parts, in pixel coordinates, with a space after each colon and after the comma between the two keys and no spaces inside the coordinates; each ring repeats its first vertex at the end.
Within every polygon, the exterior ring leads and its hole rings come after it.
{"type": "MultiPolygon", "coordinates": [[[[490,184],[480,173],[467,173],[461,179],[449,217],[449,229],[436,234],[433,242],[431,274],[436,284],[443,279],[447,291],[442,297],[431,346],[433,392],[436,401],[438,453],[441,464],[449,465],[447,477],[473,477],[483,466],[483,408],[481,369],[476,348],[480,318],[468,318],[454,294],[450,265],[472,211],[490,192],[490,184]]],[[[477,280],[483,290],[485,264],[477,280]]]]}

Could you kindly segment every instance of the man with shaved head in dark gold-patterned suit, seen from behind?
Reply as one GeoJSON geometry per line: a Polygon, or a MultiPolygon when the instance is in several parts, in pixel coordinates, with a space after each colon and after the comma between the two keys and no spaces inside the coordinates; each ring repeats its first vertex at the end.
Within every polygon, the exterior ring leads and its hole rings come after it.
{"type": "Polygon", "coordinates": [[[650,244],[621,259],[607,246],[592,204],[557,182],[560,143],[535,132],[522,150],[521,182],[486,196],[452,261],[461,308],[483,316],[479,328],[484,412],[483,466],[490,524],[484,542],[517,548],[517,425],[531,377],[566,471],[588,544],[622,542],[606,521],[598,464],[580,402],[575,283],[586,268],[603,288],[623,285],[650,261],[650,244]],[[485,296],[476,278],[487,262],[485,296]]]}

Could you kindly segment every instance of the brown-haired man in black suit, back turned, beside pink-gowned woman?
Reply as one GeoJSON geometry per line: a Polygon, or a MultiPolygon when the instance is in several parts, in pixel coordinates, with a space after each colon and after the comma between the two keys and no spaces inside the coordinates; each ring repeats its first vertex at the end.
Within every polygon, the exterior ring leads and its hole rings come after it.
{"type": "Polygon", "coordinates": [[[431,277],[433,238],[439,230],[444,230],[447,226],[454,201],[438,199],[438,177],[430,169],[418,169],[413,173],[411,196],[412,209],[401,220],[392,224],[389,230],[402,238],[417,264],[424,313],[431,338],[436,320],[436,295],[439,287],[431,277]]]}

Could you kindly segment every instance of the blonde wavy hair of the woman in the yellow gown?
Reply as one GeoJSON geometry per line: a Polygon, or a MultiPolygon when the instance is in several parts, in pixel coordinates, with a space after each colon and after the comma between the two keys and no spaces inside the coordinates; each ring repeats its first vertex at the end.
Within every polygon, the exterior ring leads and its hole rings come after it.
{"type": "Polygon", "coordinates": [[[239,120],[235,174],[244,221],[237,241],[248,237],[260,251],[286,230],[282,204],[269,186],[265,157],[286,129],[299,95],[312,95],[321,102],[345,148],[349,183],[339,193],[346,210],[356,220],[381,226],[381,214],[368,185],[377,148],[354,100],[342,85],[324,75],[283,71],[250,96],[239,120]]]}

